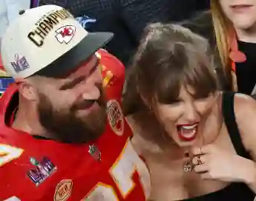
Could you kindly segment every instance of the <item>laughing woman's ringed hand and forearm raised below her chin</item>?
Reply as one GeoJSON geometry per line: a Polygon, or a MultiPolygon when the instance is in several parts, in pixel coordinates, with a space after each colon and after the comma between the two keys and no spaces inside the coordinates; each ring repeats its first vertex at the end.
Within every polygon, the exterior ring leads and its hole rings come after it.
{"type": "Polygon", "coordinates": [[[203,180],[220,180],[223,182],[255,182],[255,162],[237,154],[230,154],[208,145],[194,148],[192,163],[194,171],[203,180]]]}

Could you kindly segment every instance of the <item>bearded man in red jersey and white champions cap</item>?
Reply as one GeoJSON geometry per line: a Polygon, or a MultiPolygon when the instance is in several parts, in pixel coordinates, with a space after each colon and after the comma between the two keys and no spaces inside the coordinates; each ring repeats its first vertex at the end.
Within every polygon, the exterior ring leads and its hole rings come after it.
{"type": "Polygon", "coordinates": [[[0,99],[0,200],[145,200],[148,171],[119,105],[124,67],[99,50],[113,34],[58,6],[21,14],[1,46],[16,83],[0,99]]]}

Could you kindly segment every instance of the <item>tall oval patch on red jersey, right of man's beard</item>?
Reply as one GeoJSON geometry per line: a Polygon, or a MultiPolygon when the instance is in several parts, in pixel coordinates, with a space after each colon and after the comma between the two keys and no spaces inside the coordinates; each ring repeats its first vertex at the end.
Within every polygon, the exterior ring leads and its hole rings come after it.
{"type": "Polygon", "coordinates": [[[107,103],[108,121],[111,129],[119,136],[124,132],[124,116],[122,115],[121,106],[116,100],[107,103]]]}

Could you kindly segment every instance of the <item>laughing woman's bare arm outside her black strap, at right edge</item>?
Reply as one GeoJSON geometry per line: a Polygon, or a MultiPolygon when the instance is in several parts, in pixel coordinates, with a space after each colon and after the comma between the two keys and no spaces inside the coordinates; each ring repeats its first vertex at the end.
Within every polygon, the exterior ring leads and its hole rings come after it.
{"type": "Polygon", "coordinates": [[[256,101],[247,95],[237,94],[234,112],[243,145],[252,157],[244,181],[256,194],[256,101]]]}

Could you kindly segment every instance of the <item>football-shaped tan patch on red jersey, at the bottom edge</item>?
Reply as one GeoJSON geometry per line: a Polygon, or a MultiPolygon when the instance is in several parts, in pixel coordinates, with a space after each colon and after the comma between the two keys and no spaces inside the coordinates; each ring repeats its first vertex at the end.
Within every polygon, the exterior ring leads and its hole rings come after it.
{"type": "Polygon", "coordinates": [[[62,180],[55,189],[54,201],[65,201],[71,195],[73,188],[72,180],[62,180]]]}

